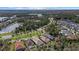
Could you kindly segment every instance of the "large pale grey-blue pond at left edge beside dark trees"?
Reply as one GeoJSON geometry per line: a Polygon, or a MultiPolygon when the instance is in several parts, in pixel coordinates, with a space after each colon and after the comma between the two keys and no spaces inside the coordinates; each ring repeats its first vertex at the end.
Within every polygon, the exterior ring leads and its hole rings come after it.
{"type": "Polygon", "coordinates": [[[19,27],[20,24],[19,23],[13,23],[11,25],[8,25],[7,27],[3,28],[2,30],[0,30],[0,34],[2,33],[8,33],[8,32],[12,32],[14,31],[17,27],[19,27]]]}

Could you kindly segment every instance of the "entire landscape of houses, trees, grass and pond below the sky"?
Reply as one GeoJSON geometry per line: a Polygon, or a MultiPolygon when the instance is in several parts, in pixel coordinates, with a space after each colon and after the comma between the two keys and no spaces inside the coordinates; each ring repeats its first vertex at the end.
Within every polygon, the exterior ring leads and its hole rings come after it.
{"type": "Polygon", "coordinates": [[[0,12],[0,51],[79,51],[78,10],[0,12]]]}

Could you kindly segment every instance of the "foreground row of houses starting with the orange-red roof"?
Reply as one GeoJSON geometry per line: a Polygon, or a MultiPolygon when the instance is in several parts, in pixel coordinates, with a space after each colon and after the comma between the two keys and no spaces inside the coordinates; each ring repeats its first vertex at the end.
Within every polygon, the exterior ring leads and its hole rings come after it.
{"type": "Polygon", "coordinates": [[[43,44],[46,44],[51,40],[54,40],[54,37],[49,34],[45,34],[40,37],[34,36],[30,39],[15,40],[13,42],[15,44],[15,50],[24,51],[30,50],[31,48],[33,48],[34,45],[41,46],[43,44]]]}

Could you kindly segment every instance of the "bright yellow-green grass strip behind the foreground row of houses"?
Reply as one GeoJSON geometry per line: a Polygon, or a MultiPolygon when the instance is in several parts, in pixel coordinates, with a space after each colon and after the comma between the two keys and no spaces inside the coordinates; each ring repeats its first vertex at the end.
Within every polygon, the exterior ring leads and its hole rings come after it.
{"type": "MultiPolygon", "coordinates": [[[[42,35],[43,33],[41,31],[32,31],[29,33],[23,33],[23,34],[16,34],[14,35],[11,40],[17,40],[17,39],[23,39],[23,38],[31,38],[33,36],[39,36],[42,35]]],[[[4,34],[0,34],[0,40],[2,39],[2,36],[6,36],[6,35],[12,35],[12,33],[4,33],[4,34]]]]}

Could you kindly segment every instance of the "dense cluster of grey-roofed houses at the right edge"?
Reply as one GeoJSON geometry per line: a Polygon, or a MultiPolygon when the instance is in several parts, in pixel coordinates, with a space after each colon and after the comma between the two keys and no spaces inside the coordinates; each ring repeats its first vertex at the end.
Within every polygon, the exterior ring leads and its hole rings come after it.
{"type": "Polygon", "coordinates": [[[64,36],[72,38],[72,36],[75,37],[79,34],[79,24],[72,22],[71,20],[59,20],[57,24],[60,28],[59,33],[64,36]]]}

